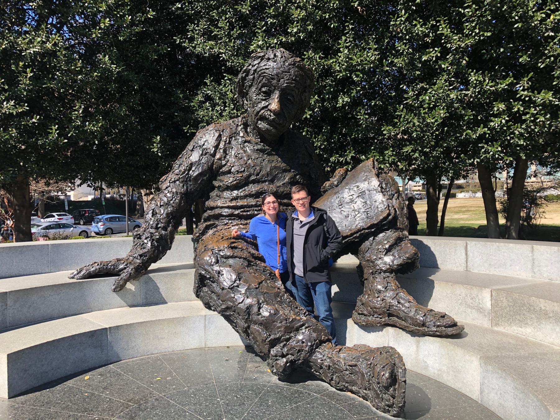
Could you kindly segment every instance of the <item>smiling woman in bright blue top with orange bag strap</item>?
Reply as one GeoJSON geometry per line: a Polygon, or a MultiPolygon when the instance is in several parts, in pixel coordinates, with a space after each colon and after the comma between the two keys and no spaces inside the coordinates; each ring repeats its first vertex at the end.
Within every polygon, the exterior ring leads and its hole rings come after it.
{"type": "Polygon", "coordinates": [[[296,298],[297,289],[292,286],[288,264],[286,263],[286,221],[285,213],[279,212],[279,204],[274,194],[264,194],[260,199],[263,214],[253,217],[249,223],[249,231],[232,230],[232,236],[241,236],[256,240],[259,253],[264,256],[268,267],[273,271],[279,269],[280,280],[288,295],[296,298]],[[278,233],[280,237],[280,264],[278,264],[278,233]]]}

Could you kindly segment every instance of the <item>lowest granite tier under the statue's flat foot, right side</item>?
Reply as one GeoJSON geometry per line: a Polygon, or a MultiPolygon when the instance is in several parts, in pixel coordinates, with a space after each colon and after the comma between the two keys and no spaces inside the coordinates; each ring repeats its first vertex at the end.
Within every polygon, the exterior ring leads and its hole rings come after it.
{"type": "Polygon", "coordinates": [[[450,338],[353,323],[354,305],[333,303],[337,338],[347,346],[392,346],[408,369],[454,388],[504,419],[560,418],[560,348],[468,323],[450,338]]]}

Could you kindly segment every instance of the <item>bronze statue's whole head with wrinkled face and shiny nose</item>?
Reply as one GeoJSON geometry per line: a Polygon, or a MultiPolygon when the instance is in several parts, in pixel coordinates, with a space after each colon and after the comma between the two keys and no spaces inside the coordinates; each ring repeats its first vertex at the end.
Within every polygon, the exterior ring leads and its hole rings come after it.
{"type": "Polygon", "coordinates": [[[237,77],[250,124],[273,141],[304,116],[313,87],[311,69],[282,48],[254,53],[237,77]]]}

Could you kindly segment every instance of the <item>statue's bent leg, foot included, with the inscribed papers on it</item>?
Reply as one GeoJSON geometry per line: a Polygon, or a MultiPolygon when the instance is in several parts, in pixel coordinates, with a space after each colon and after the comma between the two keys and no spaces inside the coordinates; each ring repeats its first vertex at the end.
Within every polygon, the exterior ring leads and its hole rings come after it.
{"type": "Polygon", "coordinates": [[[358,254],[363,294],[352,319],[360,325],[395,325],[425,335],[463,331],[451,316],[418,305],[396,274],[418,268],[418,250],[408,240],[407,210],[395,180],[370,160],[363,162],[314,206],[333,218],[344,245],[358,254]]]}

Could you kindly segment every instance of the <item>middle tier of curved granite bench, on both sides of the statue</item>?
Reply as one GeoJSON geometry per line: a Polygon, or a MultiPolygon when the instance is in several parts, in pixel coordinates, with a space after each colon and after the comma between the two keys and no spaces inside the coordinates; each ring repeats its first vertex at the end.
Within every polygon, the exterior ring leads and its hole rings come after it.
{"type": "MultiPolygon", "coordinates": [[[[332,267],[333,301],[355,303],[363,291],[356,262],[332,267]]],[[[154,264],[119,293],[115,276],[68,279],[70,272],[0,279],[0,330],[88,312],[192,301],[194,264],[154,264]]],[[[399,276],[416,300],[457,319],[560,346],[560,282],[420,268],[399,276]]]]}

